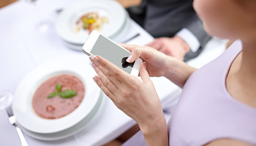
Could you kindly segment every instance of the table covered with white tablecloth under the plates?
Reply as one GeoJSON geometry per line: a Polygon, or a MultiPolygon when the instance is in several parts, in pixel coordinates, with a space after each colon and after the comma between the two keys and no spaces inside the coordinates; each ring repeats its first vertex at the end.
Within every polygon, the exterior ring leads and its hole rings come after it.
{"type": "MultiPolygon", "coordinates": [[[[74,1],[40,0],[38,5],[34,6],[18,1],[0,9],[0,90],[14,93],[18,83],[28,72],[56,56],[87,57],[82,52],[65,47],[54,30],[54,22],[58,16],[56,10],[71,2],[74,1]],[[42,20],[48,22],[48,29],[37,29],[37,24],[42,20]]],[[[137,32],[141,35],[128,44],[145,45],[153,40],[152,36],[132,20],[129,31],[122,39],[126,40],[137,32]]],[[[199,68],[218,57],[224,48],[224,40],[213,38],[202,54],[188,64],[199,68]]],[[[89,60],[88,63],[90,63],[89,60]]],[[[174,105],[180,96],[181,89],[164,77],[152,78],[152,80],[163,107],[174,105]]],[[[40,141],[25,134],[28,144],[102,145],[111,141],[128,130],[135,122],[116,108],[108,97],[105,98],[102,114],[92,126],[58,141],[40,141]]],[[[15,128],[10,125],[3,109],[0,109],[0,117],[0,145],[20,145],[15,128]]]]}

